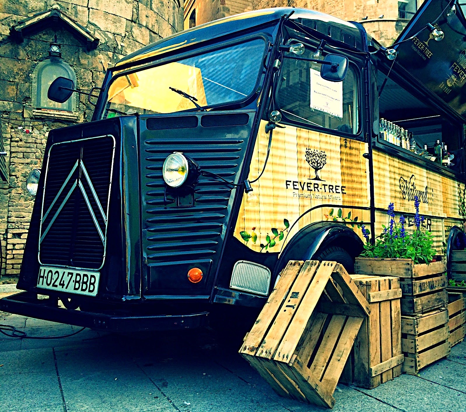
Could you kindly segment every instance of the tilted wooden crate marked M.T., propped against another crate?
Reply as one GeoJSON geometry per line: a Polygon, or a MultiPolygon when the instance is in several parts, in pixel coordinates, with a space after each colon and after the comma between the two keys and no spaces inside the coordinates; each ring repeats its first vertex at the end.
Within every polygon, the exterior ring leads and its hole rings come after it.
{"type": "Polygon", "coordinates": [[[332,408],[369,304],[336,262],[289,261],[240,354],[281,396],[332,408]]]}

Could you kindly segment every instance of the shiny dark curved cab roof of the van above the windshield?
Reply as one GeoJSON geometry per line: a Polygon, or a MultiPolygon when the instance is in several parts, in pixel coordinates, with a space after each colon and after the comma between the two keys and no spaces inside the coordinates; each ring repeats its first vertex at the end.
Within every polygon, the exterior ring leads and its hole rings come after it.
{"type": "Polygon", "coordinates": [[[315,29],[325,36],[342,41],[350,47],[365,51],[367,34],[363,26],[359,23],[344,21],[329,14],[306,8],[274,7],[224,17],[223,19],[211,21],[165,37],[162,40],[151,43],[123,57],[123,59],[117,62],[117,66],[155,57],[159,54],[185,48],[223,35],[238,33],[252,27],[272,23],[274,21],[278,22],[281,16],[291,12],[294,13],[290,17],[290,20],[299,21],[303,25],[315,29]]]}

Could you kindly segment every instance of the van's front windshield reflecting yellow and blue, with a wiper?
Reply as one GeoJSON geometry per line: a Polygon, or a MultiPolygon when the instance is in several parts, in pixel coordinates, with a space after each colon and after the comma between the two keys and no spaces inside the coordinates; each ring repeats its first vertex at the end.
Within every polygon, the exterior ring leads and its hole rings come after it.
{"type": "Polygon", "coordinates": [[[255,91],[265,41],[254,39],[149,69],[120,73],[103,117],[173,113],[239,102],[255,91]]]}

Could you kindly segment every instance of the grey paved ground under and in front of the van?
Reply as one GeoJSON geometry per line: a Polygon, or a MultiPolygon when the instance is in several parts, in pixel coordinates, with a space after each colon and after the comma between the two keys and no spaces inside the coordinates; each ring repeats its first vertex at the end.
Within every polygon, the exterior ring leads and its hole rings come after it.
{"type": "MultiPolygon", "coordinates": [[[[28,336],[79,328],[0,313],[28,336]]],[[[281,398],[235,348],[212,332],[120,336],[86,329],[64,339],[0,334],[0,411],[314,412],[281,398]]],[[[373,390],[338,385],[334,411],[466,411],[466,343],[419,376],[402,375],[373,390]]]]}

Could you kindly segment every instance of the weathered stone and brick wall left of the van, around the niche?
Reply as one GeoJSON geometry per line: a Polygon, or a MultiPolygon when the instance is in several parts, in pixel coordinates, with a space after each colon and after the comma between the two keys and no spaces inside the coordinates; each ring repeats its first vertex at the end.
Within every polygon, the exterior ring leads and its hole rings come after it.
{"type": "Polygon", "coordinates": [[[26,178],[41,167],[48,130],[92,117],[87,96],[76,97],[71,114],[32,107],[34,68],[48,59],[55,34],[62,60],[75,71],[75,87],[88,91],[101,86],[106,69],[123,56],[182,29],[183,0],[0,0],[0,122],[9,168],[9,181],[0,182],[0,239],[7,256],[0,275],[19,273],[34,203],[26,178]],[[89,51],[73,30],[54,22],[25,34],[22,43],[13,40],[12,26],[52,8],[98,38],[97,48],[89,51]]]}

